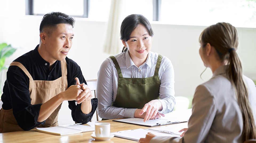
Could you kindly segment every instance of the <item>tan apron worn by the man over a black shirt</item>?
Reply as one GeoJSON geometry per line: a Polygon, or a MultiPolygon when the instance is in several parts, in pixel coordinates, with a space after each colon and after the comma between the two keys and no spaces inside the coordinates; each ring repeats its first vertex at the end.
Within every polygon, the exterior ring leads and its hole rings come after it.
{"type": "MultiPolygon", "coordinates": [[[[67,90],[67,64],[66,60],[61,61],[62,77],[54,81],[34,81],[27,69],[19,62],[12,62],[10,66],[18,66],[29,77],[29,93],[31,104],[45,103],[57,94],[67,90]]],[[[38,127],[58,126],[59,107],[45,120],[44,125],[38,127]]],[[[13,115],[13,109],[0,110],[0,132],[24,131],[21,129],[13,115]]]]}

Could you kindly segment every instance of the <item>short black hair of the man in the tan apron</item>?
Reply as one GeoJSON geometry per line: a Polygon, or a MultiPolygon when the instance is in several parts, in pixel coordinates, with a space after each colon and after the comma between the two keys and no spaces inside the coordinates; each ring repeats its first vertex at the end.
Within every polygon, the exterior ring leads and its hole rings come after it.
{"type": "Polygon", "coordinates": [[[43,28],[55,28],[60,23],[70,24],[74,28],[75,19],[61,12],[50,12],[43,16],[39,31],[42,33],[43,28]]]}

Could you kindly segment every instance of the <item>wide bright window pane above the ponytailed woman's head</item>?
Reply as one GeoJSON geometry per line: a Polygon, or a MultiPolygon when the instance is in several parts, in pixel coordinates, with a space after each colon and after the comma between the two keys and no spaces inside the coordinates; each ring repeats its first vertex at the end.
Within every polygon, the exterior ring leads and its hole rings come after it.
{"type": "Polygon", "coordinates": [[[175,25],[209,26],[228,22],[256,27],[256,0],[162,0],[161,21],[175,25]]]}

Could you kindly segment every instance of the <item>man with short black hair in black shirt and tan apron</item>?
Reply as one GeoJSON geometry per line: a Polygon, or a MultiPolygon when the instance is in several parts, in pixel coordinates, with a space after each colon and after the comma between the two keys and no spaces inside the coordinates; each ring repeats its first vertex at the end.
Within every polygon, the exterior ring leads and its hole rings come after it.
{"type": "Polygon", "coordinates": [[[1,97],[1,133],[57,126],[64,100],[69,101],[75,122],[91,120],[98,99],[91,99],[80,67],[66,57],[74,22],[61,12],[44,15],[39,45],[10,64],[1,97]]]}

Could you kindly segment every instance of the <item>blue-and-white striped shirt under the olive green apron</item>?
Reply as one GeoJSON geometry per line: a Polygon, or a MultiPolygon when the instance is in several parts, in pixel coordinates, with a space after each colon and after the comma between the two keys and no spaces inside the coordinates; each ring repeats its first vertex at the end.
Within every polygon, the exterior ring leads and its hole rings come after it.
{"type": "MultiPolygon", "coordinates": [[[[158,53],[149,52],[146,61],[135,66],[129,56],[129,52],[123,52],[114,56],[120,66],[124,78],[147,78],[154,76],[158,53]]],[[[173,111],[174,99],[174,69],[171,61],[163,56],[159,72],[161,85],[159,101],[163,110],[159,113],[166,114],[173,111]]],[[[117,96],[118,74],[113,61],[107,58],[101,64],[98,72],[96,97],[98,98],[98,115],[104,119],[134,118],[133,108],[119,108],[111,106],[117,96]]]]}

